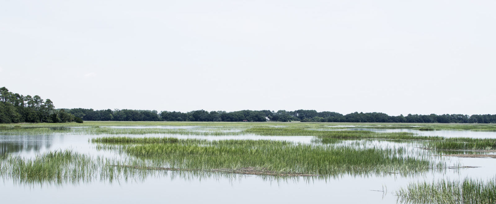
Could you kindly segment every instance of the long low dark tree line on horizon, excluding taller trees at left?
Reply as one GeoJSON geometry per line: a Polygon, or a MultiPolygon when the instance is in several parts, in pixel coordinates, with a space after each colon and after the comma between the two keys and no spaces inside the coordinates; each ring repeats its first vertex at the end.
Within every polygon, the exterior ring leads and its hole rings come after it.
{"type": "Polygon", "coordinates": [[[354,112],[343,115],[337,112],[317,112],[315,110],[295,110],[295,111],[270,111],[270,110],[240,110],[233,112],[226,111],[205,111],[194,110],[190,112],[162,111],[156,110],[130,110],[130,109],[106,109],[93,110],[84,108],[65,109],[83,120],[94,121],[225,121],[225,122],[263,122],[268,118],[271,121],[302,121],[302,122],[395,122],[395,123],[496,123],[495,115],[412,115],[389,116],[380,112],[354,112]]]}

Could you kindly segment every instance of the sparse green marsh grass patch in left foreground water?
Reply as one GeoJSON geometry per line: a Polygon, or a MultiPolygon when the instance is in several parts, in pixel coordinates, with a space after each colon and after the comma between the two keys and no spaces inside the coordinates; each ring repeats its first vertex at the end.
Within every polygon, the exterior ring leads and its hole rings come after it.
{"type": "Polygon", "coordinates": [[[99,181],[144,180],[158,175],[146,169],[119,168],[110,163],[122,162],[118,158],[91,157],[73,151],[55,151],[38,154],[35,158],[7,156],[0,159],[0,177],[21,185],[63,185],[67,183],[99,181]]]}

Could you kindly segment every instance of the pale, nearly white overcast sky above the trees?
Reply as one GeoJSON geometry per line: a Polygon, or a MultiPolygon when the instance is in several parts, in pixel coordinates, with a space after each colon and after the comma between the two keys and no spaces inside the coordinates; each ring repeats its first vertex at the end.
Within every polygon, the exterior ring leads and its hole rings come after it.
{"type": "Polygon", "coordinates": [[[494,0],[1,0],[0,87],[56,108],[496,114],[494,0]]]}

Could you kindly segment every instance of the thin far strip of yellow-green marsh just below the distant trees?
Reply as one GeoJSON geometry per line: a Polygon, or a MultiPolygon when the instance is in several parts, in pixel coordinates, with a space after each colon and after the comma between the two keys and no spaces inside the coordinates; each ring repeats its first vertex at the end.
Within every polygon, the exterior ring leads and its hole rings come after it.
{"type": "MultiPolygon", "coordinates": [[[[240,133],[229,132],[228,130],[253,129],[253,128],[277,128],[272,126],[287,126],[288,129],[348,129],[352,127],[334,127],[341,125],[356,125],[360,128],[374,129],[416,129],[416,130],[471,130],[471,131],[496,131],[496,124],[441,124],[441,123],[306,123],[306,122],[176,122],[176,121],[85,121],[84,123],[18,123],[1,125],[0,133],[6,134],[49,134],[60,132],[75,132],[79,134],[161,134],[167,131],[177,131],[177,134],[196,134],[196,135],[222,135],[222,132],[238,135],[240,133]],[[14,130],[14,126],[20,127],[14,130]],[[211,133],[193,133],[194,131],[181,130],[164,130],[158,128],[146,128],[147,130],[138,130],[136,128],[126,128],[124,130],[114,130],[115,128],[106,129],[105,126],[196,126],[198,128],[212,127],[211,133]],[[421,126],[421,127],[415,127],[421,126]],[[36,127],[41,129],[29,129],[26,127],[36,127]],[[61,129],[50,129],[60,127],[61,129]],[[90,127],[63,129],[62,127],[90,127]],[[98,129],[102,127],[103,129],[98,129]],[[48,129],[43,129],[48,128],[48,129]],[[191,132],[191,133],[186,133],[191,132]]],[[[144,128],[143,128],[144,129],[144,128]]],[[[256,130],[250,130],[255,131],[256,130]]],[[[171,133],[176,134],[176,133],[171,133]]],[[[226,133],[227,134],[227,133],[226,133]]]]}

